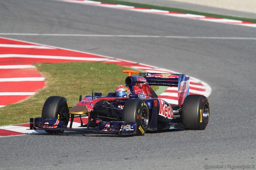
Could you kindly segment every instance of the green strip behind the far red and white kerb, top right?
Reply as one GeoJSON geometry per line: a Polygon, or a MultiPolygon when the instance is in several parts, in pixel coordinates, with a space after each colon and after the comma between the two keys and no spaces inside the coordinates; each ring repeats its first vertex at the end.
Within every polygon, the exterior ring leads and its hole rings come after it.
{"type": "Polygon", "coordinates": [[[213,14],[213,13],[207,13],[207,12],[201,12],[201,11],[195,11],[195,10],[183,9],[183,8],[176,8],[176,7],[169,7],[169,6],[162,6],[162,5],[144,4],[144,3],[128,2],[128,1],[120,1],[120,0],[93,0],[93,1],[110,3],[110,4],[135,6],[135,7],[141,7],[141,8],[149,8],[149,9],[159,9],[159,10],[166,10],[166,11],[172,11],[172,12],[177,12],[177,13],[203,15],[203,16],[207,16],[207,17],[241,20],[241,21],[256,23],[256,19],[254,19],[254,18],[245,18],[245,17],[236,17],[236,16],[229,16],[229,15],[213,14]]]}

